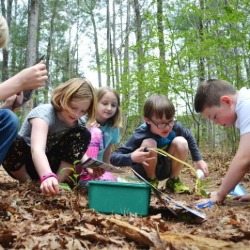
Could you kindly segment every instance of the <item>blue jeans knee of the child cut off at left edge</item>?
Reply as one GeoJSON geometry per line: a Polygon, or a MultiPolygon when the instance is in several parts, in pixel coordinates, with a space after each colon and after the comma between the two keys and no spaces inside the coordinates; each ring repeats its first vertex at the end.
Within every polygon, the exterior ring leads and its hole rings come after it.
{"type": "Polygon", "coordinates": [[[19,121],[16,114],[9,109],[0,109],[0,164],[16,138],[19,121]]]}

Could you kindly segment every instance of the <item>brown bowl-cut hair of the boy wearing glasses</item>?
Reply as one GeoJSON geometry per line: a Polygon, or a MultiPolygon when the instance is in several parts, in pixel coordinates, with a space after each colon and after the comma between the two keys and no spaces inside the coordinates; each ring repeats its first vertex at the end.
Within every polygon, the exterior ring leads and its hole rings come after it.
{"type": "Polygon", "coordinates": [[[151,95],[144,104],[144,117],[151,119],[153,116],[156,118],[171,119],[175,115],[175,108],[173,103],[162,94],[151,95]]]}

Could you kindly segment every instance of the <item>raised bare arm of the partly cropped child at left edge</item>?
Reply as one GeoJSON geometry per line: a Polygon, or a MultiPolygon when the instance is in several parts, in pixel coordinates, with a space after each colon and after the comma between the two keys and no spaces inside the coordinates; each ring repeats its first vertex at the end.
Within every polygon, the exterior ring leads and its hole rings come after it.
{"type": "Polygon", "coordinates": [[[47,80],[47,69],[43,62],[26,68],[0,84],[0,101],[23,90],[45,86],[47,80]]]}

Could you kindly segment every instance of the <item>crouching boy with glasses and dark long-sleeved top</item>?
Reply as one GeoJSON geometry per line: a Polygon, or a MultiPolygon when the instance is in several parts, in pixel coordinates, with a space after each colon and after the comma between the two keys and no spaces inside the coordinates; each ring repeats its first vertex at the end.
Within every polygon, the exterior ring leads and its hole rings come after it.
{"type": "Polygon", "coordinates": [[[166,188],[175,193],[188,192],[180,182],[183,165],[145,148],[161,148],[185,161],[190,150],[195,166],[208,176],[207,164],[202,160],[195,139],[188,129],[174,120],[175,108],[164,95],[150,96],[144,105],[145,123],[139,126],[128,142],[118,148],[110,158],[117,166],[132,166],[142,177],[158,186],[158,180],[169,178],[166,188]]]}

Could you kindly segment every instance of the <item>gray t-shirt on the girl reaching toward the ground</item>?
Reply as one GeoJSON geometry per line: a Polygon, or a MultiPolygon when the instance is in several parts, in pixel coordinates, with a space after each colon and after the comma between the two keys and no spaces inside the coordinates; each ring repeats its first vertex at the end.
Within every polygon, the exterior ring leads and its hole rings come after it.
{"type": "MultiPolygon", "coordinates": [[[[41,118],[49,126],[46,151],[50,151],[50,149],[60,141],[61,137],[66,132],[72,129],[72,127],[69,127],[63,121],[58,119],[57,111],[51,104],[39,105],[36,108],[32,109],[26,116],[19,131],[19,135],[23,137],[28,146],[30,146],[32,128],[30,120],[33,118],[41,118]]],[[[78,123],[80,122],[81,121],[78,120],[78,123]]]]}

